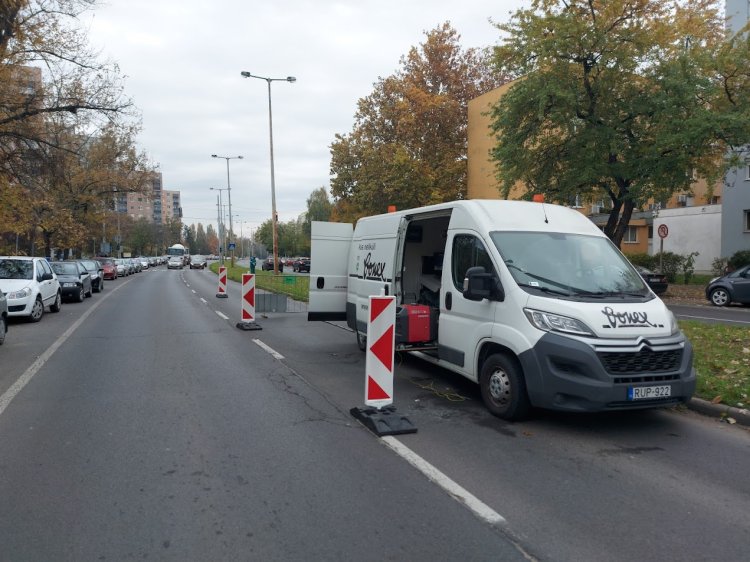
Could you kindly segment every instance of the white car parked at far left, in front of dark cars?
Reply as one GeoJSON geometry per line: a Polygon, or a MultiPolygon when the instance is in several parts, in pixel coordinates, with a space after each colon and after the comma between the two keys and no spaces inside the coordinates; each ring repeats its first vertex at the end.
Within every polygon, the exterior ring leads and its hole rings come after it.
{"type": "Polygon", "coordinates": [[[8,300],[8,316],[39,322],[44,308],[60,312],[62,295],[57,275],[46,258],[0,256],[0,291],[8,300]]]}

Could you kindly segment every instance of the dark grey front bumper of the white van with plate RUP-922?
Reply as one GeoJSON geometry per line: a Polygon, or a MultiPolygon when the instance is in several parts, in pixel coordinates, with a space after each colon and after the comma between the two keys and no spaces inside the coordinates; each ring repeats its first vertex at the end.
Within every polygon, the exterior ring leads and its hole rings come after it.
{"type": "Polygon", "coordinates": [[[673,406],[695,392],[693,348],[681,332],[627,341],[546,333],[519,359],[529,399],[540,408],[597,412],[673,406]]]}

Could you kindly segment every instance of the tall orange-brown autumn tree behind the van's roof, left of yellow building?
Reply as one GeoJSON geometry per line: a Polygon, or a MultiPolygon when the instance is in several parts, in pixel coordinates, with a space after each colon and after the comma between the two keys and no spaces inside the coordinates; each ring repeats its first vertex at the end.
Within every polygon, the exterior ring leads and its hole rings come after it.
{"type": "Polygon", "coordinates": [[[486,53],[461,48],[449,23],[425,36],[359,100],[352,131],[331,145],[338,217],[466,196],[468,102],[501,80],[486,53]]]}

